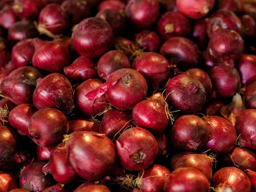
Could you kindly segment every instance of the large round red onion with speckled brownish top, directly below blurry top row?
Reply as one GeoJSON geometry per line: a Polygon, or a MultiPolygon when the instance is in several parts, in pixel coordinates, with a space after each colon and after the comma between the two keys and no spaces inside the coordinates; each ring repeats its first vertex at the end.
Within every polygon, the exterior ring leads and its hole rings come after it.
{"type": "Polygon", "coordinates": [[[112,47],[114,32],[106,20],[97,17],[86,18],[74,30],[72,43],[80,55],[98,58],[112,47]]]}

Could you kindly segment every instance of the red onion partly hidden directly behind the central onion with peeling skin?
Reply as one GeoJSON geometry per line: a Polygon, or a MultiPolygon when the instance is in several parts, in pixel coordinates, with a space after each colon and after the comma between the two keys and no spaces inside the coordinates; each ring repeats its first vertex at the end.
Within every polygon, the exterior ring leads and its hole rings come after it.
{"type": "Polygon", "coordinates": [[[98,60],[97,73],[103,80],[107,80],[117,69],[130,68],[130,61],[126,54],[120,50],[111,50],[103,54],[98,60]]]}

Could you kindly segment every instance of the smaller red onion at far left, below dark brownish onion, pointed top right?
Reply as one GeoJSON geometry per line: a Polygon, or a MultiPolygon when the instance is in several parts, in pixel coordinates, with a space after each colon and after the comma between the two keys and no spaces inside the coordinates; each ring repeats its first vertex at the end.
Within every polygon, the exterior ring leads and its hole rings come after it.
{"type": "Polygon", "coordinates": [[[32,40],[32,38],[26,38],[20,40],[13,46],[11,50],[11,60],[13,65],[17,68],[32,65],[32,58],[35,51],[32,40]]]}

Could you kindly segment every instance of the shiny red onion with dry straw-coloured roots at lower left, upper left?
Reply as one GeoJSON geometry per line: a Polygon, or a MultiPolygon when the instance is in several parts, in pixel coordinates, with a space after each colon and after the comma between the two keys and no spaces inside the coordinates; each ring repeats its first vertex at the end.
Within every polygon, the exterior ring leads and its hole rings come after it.
{"type": "Polygon", "coordinates": [[[62,36],[70,28],[67,12],[60,4],[48,3],[39,13],[36,28],[52,38],[62,36]]]}

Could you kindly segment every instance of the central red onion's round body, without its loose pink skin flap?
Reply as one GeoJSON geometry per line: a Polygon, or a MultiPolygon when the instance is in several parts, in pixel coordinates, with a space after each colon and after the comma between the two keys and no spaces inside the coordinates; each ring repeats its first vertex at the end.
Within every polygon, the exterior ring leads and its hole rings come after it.
{"type": "Polygon", "coordinates": [[[146,97],[148,89],[146,79],[135,69],[123,68],[112,72],[106,83],[117,79],[118,82],[106,93],[106,99],[117,109],[132,110],[146,97]]]}

